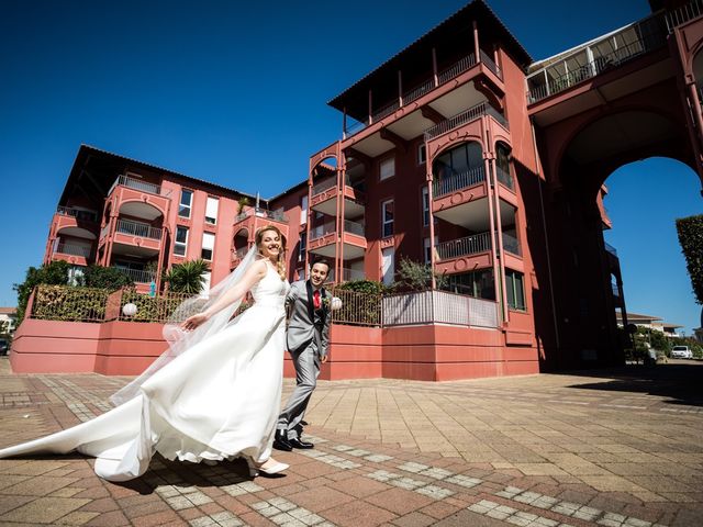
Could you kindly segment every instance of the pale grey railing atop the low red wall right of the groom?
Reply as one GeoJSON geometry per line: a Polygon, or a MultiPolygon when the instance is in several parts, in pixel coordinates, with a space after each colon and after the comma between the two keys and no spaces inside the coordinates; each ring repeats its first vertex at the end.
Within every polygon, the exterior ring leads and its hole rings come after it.
{"type": "Polygon", "coordinates": [[[381,314],[384,327],[417,324],[498,327],[498,304],[494,301],[448,291],[384,295],[381,314]]]}

